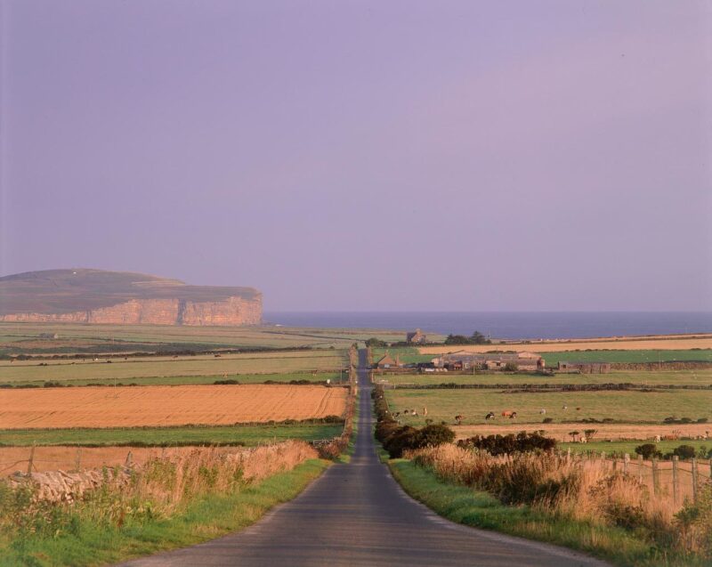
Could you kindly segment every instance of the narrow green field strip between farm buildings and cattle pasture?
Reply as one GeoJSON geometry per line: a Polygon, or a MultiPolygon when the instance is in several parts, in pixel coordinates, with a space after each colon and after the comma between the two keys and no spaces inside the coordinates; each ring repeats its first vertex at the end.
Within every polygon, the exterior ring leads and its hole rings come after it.
{"type": "Polygon", "coordinates": [[[700,370],[626,370],[610,374],[392,374],[375,375],[374,380],[397,385],[481,384],[481,385],[534,385],[534,384],[640,384],[640,385],[712,385],[712,369],[700,370]]]}

